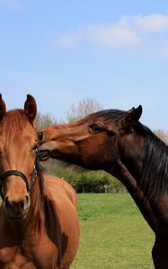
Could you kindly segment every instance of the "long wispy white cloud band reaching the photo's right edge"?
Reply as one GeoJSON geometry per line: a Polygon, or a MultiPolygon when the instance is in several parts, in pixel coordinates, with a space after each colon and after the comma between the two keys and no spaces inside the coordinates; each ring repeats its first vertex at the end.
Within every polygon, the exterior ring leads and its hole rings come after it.
{"type": "Polygon", "coordinates": [[[55,40],[57,47],[72,48],[97,44],[102,48],[143,48],[157,55],[167,55],[168,14],[122,16],[117,22],[93,24],[71,30],[55,40]]]}

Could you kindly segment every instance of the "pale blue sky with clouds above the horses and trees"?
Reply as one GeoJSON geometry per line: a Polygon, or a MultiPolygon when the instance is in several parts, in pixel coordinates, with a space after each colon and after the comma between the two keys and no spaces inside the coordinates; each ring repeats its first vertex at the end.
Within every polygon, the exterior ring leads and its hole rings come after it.
{"type": "Polygon", "coordinates": [[[65,118],[86,97],[168,131],[167,0],[0,0],[0,91],[65,118]]]}

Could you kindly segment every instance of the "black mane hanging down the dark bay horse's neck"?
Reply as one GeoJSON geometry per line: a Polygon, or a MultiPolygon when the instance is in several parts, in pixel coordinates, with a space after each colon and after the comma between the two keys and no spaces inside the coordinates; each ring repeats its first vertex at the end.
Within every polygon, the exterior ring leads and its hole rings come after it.
{"type": "Polygon", "coordinates": [[[168,193],[168,147],[151,131],[145,137],[145,160],[140,187],[148,198],[168,193]]]}

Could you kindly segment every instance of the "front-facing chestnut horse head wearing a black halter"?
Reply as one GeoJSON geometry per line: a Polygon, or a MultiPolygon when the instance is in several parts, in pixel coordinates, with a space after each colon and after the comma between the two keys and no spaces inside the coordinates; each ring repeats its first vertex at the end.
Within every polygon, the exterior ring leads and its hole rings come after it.
{"type": "Polygon", "coordinates": [[[23,109],[7,112],[0,95],[0,188],[5,212],[13,219],[24,218],[31,204],[38,147],[33,127],[36,113],[36,101],[31,95],[27,95],[23,109]]]}

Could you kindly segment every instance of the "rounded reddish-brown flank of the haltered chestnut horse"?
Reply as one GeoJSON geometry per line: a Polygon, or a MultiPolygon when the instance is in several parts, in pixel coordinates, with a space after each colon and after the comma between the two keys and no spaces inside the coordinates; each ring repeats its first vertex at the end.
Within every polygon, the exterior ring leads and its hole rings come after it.
{"type": "Polygon", "coordinates": [[[57,227],[57,236],[58,234],[61,236],[62,265],[66,265],[72,261],[79,244],[80,231],[75,190],[65,180],[57,177],[45,176],[44,182],[49,234],[52,236],[57,227]]]}

